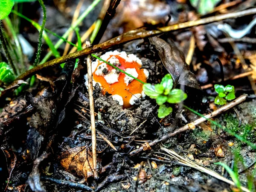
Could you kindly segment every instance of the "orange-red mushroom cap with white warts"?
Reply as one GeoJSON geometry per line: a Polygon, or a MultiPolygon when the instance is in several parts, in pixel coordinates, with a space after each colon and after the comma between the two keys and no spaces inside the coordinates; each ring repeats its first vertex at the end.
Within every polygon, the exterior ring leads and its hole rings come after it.
{"type": "MultiPolygon", "coordinates": [[[[148,70],[141,69],[142,62],[134,54],[127,55],[126,52],[110,51],[102,55],[105,61],[113,64],[131,76],[145,82],[148,79],[148,70]]],[[[135,101],[145,97],[143,93],[143,84],[132,77],[120,72],[103,61],[92,62],[93,86],[96,83],[102,88],[102,93],[111,94],[112,98],[119,102],[123,108],[129,108],[135,101]]],[[[87,79],[87,78],[86,78],[87,79]]],[[[87,82],[86,82],[87,84],[87,82]]]]}

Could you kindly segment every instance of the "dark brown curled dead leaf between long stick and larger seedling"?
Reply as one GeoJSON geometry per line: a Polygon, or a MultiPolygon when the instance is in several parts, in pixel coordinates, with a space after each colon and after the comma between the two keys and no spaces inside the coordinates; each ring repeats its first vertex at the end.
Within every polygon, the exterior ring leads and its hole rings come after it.
{"type": "Polygon", "coordinates": [[[167,43],[159,37],[151,37],[149,41],[157,49],[164,67],[171,74],[174,87],[177,84],[183,84],[201,90],[194,73],[189,70],[189,66],[185,62],[183,52],[175,46],[173,41],[167,43]]]}

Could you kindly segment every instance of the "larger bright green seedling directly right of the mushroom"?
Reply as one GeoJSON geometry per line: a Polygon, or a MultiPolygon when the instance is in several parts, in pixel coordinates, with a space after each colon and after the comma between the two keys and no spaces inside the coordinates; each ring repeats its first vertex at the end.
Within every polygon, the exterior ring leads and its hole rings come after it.
{"type": "Polygon", "coordinates": [[[157,116],[164,118],[172,113],[172,107],[164,105],[168,103],[180,103],[187,98],[187,94],[180,89],[172,89],[173,80],[170,74],[163,77],[160,84],[152,85],[146,83],[143,85],[143,90],[151,99],[156,99],[157,105],[160,105],[157,116]]]}

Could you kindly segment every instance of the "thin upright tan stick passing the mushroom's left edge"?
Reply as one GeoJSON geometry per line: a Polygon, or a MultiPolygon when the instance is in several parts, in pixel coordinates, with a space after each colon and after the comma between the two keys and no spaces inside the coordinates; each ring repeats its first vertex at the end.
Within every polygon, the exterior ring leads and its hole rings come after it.
{"type": "MultiPolygon", "coordinates": [[[[88,43],[90,44],[89,41],[88,43]]],[[[94,100],[93,100],[93,72],[92,72],[92,60],[90,55],[87,56],[87,73],[88,73],[88,92],[89,92],[89,100],[90,100],[90,120],[91,120],[91,131],[92,131],[93,177],[95,179],[98,179],[99,176],[97,172],[96,128],[95,128],[94,100]]]]}

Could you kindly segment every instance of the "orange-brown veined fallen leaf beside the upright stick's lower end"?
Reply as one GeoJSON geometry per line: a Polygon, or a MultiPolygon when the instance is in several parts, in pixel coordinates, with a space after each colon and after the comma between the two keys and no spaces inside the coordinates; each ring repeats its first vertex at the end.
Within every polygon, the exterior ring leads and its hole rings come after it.
{"type": "Polygon", "coordinates": [[[75,173],[79,177],[84,177],[85,180],[93,176],[93,157],[87,146],[74,147],[64,151],[59,160],[67,172],[75,173]]]}

